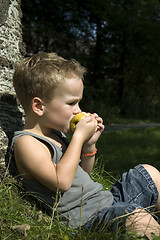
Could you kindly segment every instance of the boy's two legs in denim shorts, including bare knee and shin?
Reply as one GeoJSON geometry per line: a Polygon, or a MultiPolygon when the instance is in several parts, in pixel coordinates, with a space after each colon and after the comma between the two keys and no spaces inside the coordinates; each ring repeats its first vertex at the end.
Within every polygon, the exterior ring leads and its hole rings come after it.
{"type": "Polygon", "coordinates": [[[99,212],[86,227],[109,226],[109,230],[117,231],[119,226],[126,224],[127,229],[138,235],[145,235],[149,239],[151,239],[151,233],[159,236],[160,225],[147,212],[155,209],[159,201],[159,187],[156,185],[158,177],[152,177],[157,171],[148,165],[146,167],[138,165],[128,173],[124,173],[122,179],[116,181],[111,189],[114,196],[113,205],[99,212]],[[145,208],[147,211],[144,210],[145,208]]]}

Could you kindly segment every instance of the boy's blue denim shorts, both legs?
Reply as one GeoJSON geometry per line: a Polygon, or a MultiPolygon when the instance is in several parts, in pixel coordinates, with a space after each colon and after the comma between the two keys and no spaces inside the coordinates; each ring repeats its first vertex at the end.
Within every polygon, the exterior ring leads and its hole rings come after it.
{"type": "Polygon", "coordinates": [[[158,201],[158,190],[148,171],[139,164],[124,173],[120,181],[116,181],[111,192],[114,197],[110,208],[102,209],[85,224],[85,228],[117,231],[124,228],[128,213],[137,208],[147,211],[155,209],[158,201]]]}

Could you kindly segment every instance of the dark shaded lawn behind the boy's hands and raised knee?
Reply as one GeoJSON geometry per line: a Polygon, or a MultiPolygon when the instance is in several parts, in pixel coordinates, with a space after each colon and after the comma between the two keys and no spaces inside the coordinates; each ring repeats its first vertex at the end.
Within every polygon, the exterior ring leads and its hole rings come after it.
{"type": "Polygon", "coordinates": [[[160,128],[107,131],[98,144],[98,156],[104,169],[119,177],[139,163],[160,170],[160,128]]]}

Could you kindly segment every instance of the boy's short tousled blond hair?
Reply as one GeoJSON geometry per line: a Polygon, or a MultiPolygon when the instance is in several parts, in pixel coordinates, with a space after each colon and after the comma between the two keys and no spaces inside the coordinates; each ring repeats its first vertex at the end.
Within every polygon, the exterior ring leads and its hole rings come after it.
{"type": "Polygon", "coordinates": [[[78,76],[83,80],[86,69],[74,59],[66,60],[56,53],[41,52],[23,59],[13,76],[13,86],[25,111],[31,100],[39,97],[45,102],[53,98],[53,90],[66,78],[78,76]]]}

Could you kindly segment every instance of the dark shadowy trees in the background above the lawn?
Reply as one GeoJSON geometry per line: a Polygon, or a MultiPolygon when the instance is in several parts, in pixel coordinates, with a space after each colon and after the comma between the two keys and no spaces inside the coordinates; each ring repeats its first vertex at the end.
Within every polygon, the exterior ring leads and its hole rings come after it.
{"type": "Polygon", "coordinates": [[[23,0],[28,55],[57,52],[86,66],[86,111],[160,116],[158,0],[23,0]]]}

